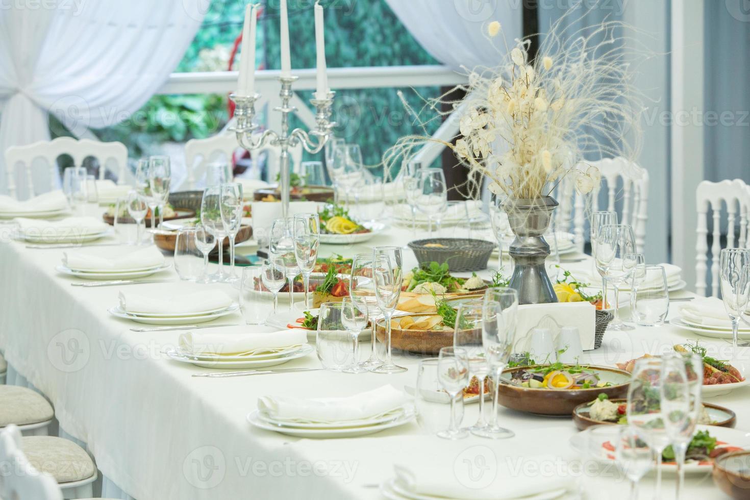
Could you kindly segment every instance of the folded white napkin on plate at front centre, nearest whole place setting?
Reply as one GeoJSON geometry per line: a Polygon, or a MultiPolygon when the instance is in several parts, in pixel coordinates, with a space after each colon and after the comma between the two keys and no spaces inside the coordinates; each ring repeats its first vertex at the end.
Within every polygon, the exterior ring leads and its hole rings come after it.
{"type": "Polygon", "coordinates": [[[276,420],[341,422],[362,420],[398,409],[407,403],[404,391],[383,385],[373,391],[347,397],[264,396],[258,398],[258,409],[276,420]]]}

